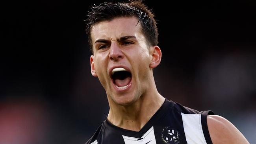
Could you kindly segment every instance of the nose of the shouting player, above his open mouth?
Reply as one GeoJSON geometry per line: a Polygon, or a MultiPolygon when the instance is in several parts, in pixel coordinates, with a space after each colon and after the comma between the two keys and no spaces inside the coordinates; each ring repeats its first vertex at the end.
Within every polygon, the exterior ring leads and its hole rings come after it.
{"type": "Polygon", "coordinates": [[[124,54],[122,53],[122,50],[120,49],[117,42],[112,42],[110,46],[110,54],[109,58],[113,61],[118,61],[119,59],[122,59],[124,57],[124,54]]]}

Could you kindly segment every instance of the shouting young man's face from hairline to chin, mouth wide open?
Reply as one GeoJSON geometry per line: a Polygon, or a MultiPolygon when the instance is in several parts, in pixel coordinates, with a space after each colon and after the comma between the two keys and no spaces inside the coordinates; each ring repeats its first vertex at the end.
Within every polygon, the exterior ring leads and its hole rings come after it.
{"type": "Polygon", "coordinates": [[[133,103],[145,94],[152,76],[152,47],[137,22],[135,17],[121,17],[91,29],[91,73],[100,80],[108,100],[120,105],[133,103]]]}

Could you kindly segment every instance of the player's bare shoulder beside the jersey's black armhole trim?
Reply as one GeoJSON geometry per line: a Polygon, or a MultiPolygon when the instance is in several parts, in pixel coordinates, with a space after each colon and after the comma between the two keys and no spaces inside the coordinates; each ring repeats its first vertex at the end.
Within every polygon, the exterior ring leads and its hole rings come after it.
{"type": "Polygon", "coordinates": [[[213,144],[249,144],[243,134],[222,116],[208,115],[207,125],[213,144]]]}

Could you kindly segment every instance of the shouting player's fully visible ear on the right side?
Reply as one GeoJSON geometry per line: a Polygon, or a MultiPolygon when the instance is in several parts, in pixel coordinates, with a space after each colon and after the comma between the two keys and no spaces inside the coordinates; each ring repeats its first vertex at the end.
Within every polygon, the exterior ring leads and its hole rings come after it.
{"type": "Polygon", "coordinates": [[[150,48],[150,55],[152,56],[152,59],[150,61],[149,67],[150,68],[156,68],[161,62],[162,52],[161,49],[158,46],[152,46],[150,48]]]}

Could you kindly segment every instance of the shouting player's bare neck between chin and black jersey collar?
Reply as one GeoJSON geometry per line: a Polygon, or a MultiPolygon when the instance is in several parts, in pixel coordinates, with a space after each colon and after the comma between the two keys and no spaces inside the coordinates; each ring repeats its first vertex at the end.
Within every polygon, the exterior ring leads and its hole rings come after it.
{"type": "Polygon", "coordinates": [[[165,98],[156,89],[150,90],[130,105],[117,105],[115,103],[109,105],[108,120],[113,125],[123,129],[140,131],[164,101],[165,98]]]}

